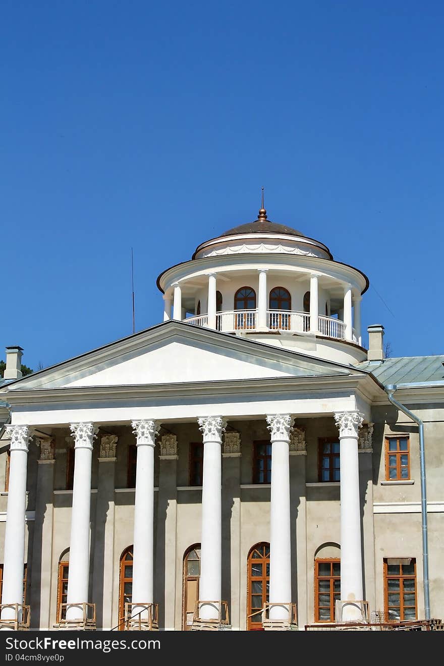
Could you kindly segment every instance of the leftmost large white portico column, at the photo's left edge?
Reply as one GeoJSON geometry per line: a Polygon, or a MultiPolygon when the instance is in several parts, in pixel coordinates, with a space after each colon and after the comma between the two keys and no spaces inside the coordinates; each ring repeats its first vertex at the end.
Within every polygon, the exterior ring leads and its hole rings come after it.
{"type": "MultiPolygon", "coordinates": [[[[25,509],[28,462],[28,426],[6,426],[11,437],[9,490],[6,512],[5,555],[1,603],[23,603],[23,567],[25,564],[25,509]]],[[[13,619],[15,611],[4,608],[1,619],[13,619]]],[[[21,613],[19,613],[21,619],[21,613]]],[[[7,627],[2,627],[7,628],[7,627]]]]}

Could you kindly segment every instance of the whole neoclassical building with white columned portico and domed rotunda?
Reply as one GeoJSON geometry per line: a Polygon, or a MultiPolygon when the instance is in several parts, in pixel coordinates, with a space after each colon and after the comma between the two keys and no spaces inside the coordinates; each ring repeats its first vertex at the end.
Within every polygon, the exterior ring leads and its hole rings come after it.
{"type": "Polygon", "coordinates": [[[263,206],[157,284],[152,328],[8,349],[2,626],[443,617],[444,356],[364,348],[367,277],[263,206]]]}

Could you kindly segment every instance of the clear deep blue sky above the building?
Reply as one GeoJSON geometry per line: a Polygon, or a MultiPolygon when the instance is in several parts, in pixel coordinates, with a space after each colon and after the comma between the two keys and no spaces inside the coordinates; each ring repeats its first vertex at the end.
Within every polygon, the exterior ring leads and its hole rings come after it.
{"type": "MultiPolygon", "coordinates": [[[[162,320],[156,277],[268,216],[370,280],[363,329],[444,354],[444,4],[6,0],[0,358],[162,320]]],[[[364,336],[365,343],[367,336],[364,336]]]]}

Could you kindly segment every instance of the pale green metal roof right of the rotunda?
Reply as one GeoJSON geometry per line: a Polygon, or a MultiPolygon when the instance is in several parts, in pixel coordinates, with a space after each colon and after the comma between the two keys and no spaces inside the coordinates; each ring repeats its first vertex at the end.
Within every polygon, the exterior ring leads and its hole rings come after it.
{"type": "Polygon", "coordinates": [[[444,356],[404,356],[385,358],[383,361],[365,361],[356,368],[371,372],[385,386],[387,384],[444,384],[444,356]]]}

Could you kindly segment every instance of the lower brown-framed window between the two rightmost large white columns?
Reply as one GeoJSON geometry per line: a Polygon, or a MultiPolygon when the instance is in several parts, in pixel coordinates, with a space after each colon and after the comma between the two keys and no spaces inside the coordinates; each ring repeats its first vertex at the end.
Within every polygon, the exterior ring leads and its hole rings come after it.
{"type": "Polygon", "coordinates": [[[341,561],[314,561],[314,621],[334,622],[335,601],[341,598],[341,561]]]}

